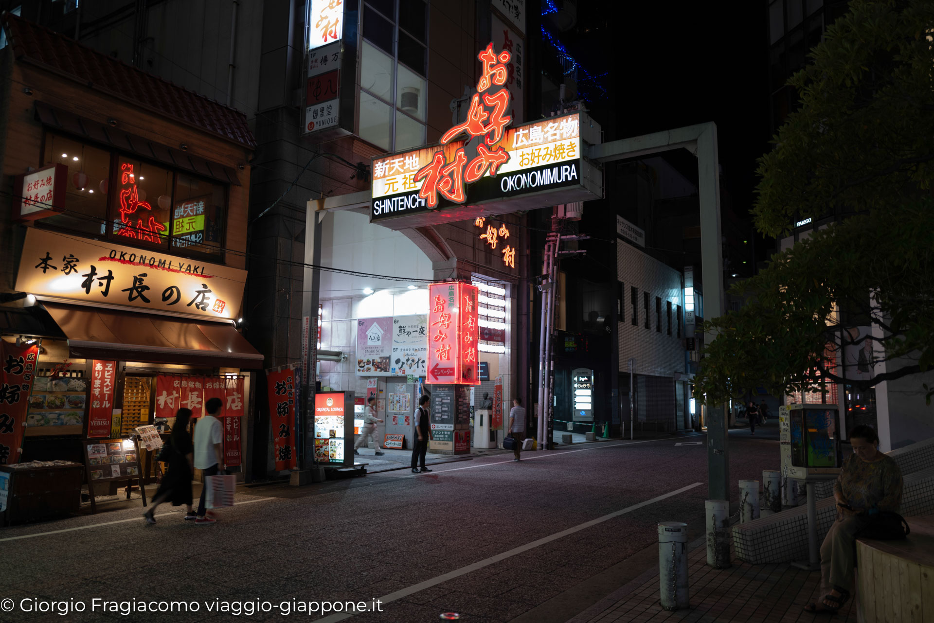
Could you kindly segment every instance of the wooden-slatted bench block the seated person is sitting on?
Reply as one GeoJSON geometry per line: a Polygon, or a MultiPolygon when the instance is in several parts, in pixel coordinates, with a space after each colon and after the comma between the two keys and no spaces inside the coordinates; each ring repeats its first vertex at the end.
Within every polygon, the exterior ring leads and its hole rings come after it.
{"type": "Polygon", "coordinates": [[[906,519],[912,531],[904,541],[856,539],[863,623],[934,622],[934,516],[906,519]]]}

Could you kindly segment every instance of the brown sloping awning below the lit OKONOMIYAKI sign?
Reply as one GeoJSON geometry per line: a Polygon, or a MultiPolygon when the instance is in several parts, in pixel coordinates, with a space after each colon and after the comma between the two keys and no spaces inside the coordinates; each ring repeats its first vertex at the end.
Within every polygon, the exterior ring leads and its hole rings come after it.
{"type": "Polygon", "coordinates": [[[43,303],[71,357],[202,367],[262,368],[262,355],[229,324],[43,303]]]}

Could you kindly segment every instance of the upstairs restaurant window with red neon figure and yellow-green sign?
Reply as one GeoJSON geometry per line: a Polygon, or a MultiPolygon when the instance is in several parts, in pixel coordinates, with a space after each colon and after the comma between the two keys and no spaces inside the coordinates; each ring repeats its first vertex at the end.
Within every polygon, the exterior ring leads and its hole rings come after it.
{"type": "Polygon", "coordinates": [[[43,163],[68,166],[68,191],[65,212],[40,226],[222,257],[224,185],[52,133],[43,163]]]}

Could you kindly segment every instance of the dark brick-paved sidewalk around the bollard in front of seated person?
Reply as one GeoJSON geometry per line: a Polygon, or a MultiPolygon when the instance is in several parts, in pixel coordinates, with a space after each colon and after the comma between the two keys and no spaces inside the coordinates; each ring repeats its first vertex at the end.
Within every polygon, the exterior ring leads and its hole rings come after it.
{"type": "MultiPolygon", "coordinates": [[[[567,623],[811,623],[828,621],[826,614],[804,612],[822,597],[820,573],[790,564],[751,565],[733,559],[729,569],[707,566],[704,539],[688,545],[687,577],[690,607],[674,612],[658,603],[658,566],[619,588],[567,623]]],[[[856,623],[855,600],[843,605],[833,621],[856,623]]]]}

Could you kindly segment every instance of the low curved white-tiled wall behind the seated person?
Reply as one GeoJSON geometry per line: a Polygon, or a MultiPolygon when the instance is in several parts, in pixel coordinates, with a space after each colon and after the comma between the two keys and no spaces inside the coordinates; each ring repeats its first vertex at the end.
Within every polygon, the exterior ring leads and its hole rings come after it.
{"type": "MultiPolygon", "coordinates": [[[[902,476],[903,516],[934,514],[934,467],[902,476]]],[[[817,502],[817,540],[824,541],[837,517],[833,496],[817,502]]],[[[769,517],[733,526],[735,556],[753,564],[808,559],[807,508],[789,508],[769,517]]]]}

